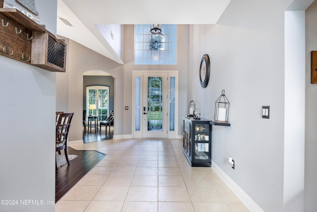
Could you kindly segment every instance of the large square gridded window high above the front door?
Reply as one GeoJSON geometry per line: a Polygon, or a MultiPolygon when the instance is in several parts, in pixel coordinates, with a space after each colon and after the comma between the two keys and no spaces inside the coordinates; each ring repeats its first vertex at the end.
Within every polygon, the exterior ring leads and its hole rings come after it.
{"type": "Polygon", "coordinates": [[[135,65],[176,65],[177,25],[162,24],[161,33],[152,34],[151,24],[136,24],[135,65]]]}

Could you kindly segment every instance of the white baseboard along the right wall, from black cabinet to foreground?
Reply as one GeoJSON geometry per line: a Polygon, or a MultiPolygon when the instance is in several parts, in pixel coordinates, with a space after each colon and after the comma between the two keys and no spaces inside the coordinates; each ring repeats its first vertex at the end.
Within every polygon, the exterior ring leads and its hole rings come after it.
{"type": "Polygon", "coordinates": [[[241,200],[250,212],[264,212],[264,210],[254,200],[243,191],[222,169],[211,161],[211,168],[219,175],[232,192],[241,200]]]}

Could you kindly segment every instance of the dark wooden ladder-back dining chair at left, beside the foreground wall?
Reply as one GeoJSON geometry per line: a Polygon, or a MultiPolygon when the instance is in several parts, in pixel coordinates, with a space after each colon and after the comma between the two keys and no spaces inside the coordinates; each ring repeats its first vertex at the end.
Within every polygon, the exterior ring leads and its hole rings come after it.
{"type": "MultiPolygon", "coordinates": [[[[70,128],[70,123],[73,118],[74,113],[60,113],[58,114],[58,120],[56,124],[56,145],[55,150],[60,154],[60,150],[64,149],[66,161],[69,165],[68,155],[67,155],[67,140],[68,132],[70,128]]],[[[55,161],[56,172],[57,172],[57,162],[55,161]]]]}

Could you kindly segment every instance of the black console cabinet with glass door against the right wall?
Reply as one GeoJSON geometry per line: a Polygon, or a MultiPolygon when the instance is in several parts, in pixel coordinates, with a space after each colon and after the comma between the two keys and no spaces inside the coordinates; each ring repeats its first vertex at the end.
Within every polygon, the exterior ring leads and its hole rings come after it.
{"type": "Polygon", "coordinates": [[[183,118],[183,152],[191,166],[211,167],[211,120],[183,118]]]}

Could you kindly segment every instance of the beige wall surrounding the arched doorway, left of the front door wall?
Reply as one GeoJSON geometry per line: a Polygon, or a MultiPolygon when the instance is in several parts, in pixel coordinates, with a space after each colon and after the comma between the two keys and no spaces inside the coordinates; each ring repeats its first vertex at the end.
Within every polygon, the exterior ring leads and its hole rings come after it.
{"type": "Polygon", "coordinates": [[[82,142],[83,139],[83,73],[86,71],[105,71],[114,77],[114,135],[123,134],[123,115],[120,111],[123,107],[123,71],[122,65],[72,41],[68,40],[68,55],[66,73],[59,73],[56,87],[57,105],[68,95],[67,112],[74,113],[71,129],[69,131],[69,141],[82,142]],[[65,81],[65,78],[67,78],[65,81]],[[116,82],[119,81],[119,83],[116,82]],[[63,81],[65,83],[60,83],[63,81]],[[116,98],[117,97],[117,98],[116,98]]]}

